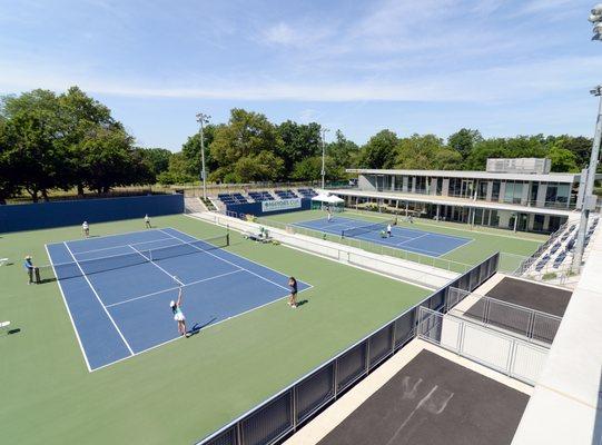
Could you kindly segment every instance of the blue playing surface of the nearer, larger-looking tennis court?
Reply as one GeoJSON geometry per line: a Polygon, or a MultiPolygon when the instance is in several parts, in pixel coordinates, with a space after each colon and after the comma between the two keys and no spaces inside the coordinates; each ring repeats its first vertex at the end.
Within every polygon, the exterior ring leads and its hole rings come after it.
{"type": "Polygon", "coordinates": [[[221,249],[226,240],[166,228],[48,245],[88,368],[178,338],[169,301],[180,285],[189,332],[288,295],[288,276],[221,249]]]}

